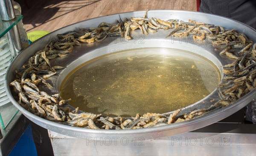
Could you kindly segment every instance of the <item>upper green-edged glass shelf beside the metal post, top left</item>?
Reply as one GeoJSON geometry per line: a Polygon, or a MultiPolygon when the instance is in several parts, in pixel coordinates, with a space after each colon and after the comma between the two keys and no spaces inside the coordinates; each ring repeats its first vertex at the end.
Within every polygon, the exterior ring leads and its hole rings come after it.
{"type": "MultiPolygon", "coordinates": [[[[14,27],[20,20],[22,20],[22,15],[16,15],[16,18],[10,21],[1,21],[0,24],[0,38],[3,37],[12,27],[14,27]]],[[[1,19],[0,19],[1,20],[1,19]]]]}

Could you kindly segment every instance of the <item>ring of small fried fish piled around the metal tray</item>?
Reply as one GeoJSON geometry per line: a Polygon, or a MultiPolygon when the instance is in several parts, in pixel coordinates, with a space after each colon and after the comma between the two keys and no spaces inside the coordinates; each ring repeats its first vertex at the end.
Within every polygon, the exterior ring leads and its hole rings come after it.
{"type": "MultiPolygon", "coordinates": [[[[244,34],[236,30],[225,30],[221,26],[196,22],[173,20],[160,20],[143,17],[131,17],[124,22],[116,20],[116,24],[100,23],[97,28],[80,28],[79,31],[68,34],[58,34],[55,39],[30,57],[27,64],[16,70],[16,79],[11,83],[18,103],[26,110],[41,116],[44,119],[60,122],[62,124],[91,128],[91,129],[137,129],[168,125],[182,122],[201,116],[210,111],[230,105],[248,92],[256,88],[256,43],[247,39],[244,34]],[[219,99],[206,109],[191,111],[189,114],[177,116],[178,109],[170,114],[145,113],[125,119],[122,116],[115,118],[93,113],[78,113],[78,108],[71,111],[67,106],[71,99],[62,99],[59,94],[49,94],[39,88],[52,88],[47,78],[58,74],[63,69],[60,66],[51,66],[50,60],[55,57],[64,57],[71,53],[73,46],[82,43],[102,42],[106,37],[125,37],[131,39],[132,30],[140,29],[142,34],[157,32],[159,29],[168,30],[170,36],[189,36],[194,40],[212,40],[213,46],[221,46],[220,55],[226,55],[234,60],[224,65],[224,81],[218,85],[219,99]],[[66,106],[65,106],[66,105],[66,106]]],[[[212,100],[213,101],[213,100],[212,100]]]]}

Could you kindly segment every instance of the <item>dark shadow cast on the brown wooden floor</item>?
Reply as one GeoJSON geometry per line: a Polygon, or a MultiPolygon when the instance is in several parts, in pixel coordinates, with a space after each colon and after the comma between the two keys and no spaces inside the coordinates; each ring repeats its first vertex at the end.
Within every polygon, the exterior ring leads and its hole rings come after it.
{"type": "MultiPolygon", "coordinates": [[[[41,26],[70,12],[90,6],[100,0],[15,0],[21,6],[23,24],[31,24],[33,28],[41,26]],[[54,15],[60,12],[58,16],[54,15]],[[33,14],[33,15],[31,15],[33,14]]],[[[63,19],[72,20],[72,19],[63,19]]],[[[31,28],[31,29],[33,29],[31,28]]],[[[31,30],[29,29],[29,30],[31,30]]],[[[29,31],[26,30],[26,31],[29,31]]]]}

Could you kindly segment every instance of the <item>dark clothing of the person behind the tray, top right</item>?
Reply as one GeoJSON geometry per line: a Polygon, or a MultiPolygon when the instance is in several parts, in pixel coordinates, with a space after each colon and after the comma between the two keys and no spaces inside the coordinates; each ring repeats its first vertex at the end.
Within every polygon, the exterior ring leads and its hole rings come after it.
{"type": "Polygon", "coordinates": [[[199,11],[238,20],[256,29],[256,0],[201,0],[199,11]]]}

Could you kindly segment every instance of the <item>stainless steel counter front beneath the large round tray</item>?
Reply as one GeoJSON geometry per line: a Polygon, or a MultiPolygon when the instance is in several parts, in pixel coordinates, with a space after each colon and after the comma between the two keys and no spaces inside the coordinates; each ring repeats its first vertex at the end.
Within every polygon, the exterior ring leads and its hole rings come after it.
{"type": "Polygon", "coordinates": [[[55,156],[255,156],[256,154],[255,133],[188,132],[152,140],[145,140],[143,137],[129,140],[118,136],[103,137],[99,140],[93,137],[80,139],[50,130],[48,133],[55,156]]]}

